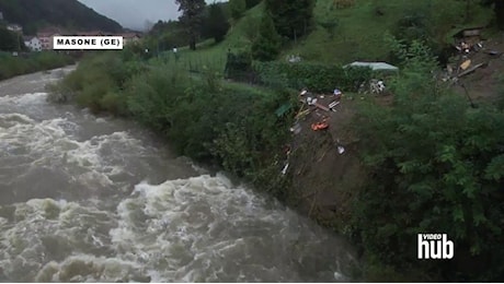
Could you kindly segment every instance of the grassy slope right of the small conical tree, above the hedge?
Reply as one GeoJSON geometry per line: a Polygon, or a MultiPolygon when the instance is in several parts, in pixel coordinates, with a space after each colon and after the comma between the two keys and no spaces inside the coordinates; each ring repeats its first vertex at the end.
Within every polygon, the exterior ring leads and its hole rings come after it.
{"type": "Polygon", "coordinates": [[[336,9],[333,1],[319,0],[316,5],[316,29],[285,54],[298,54],[307,60],[348,63],[355,60],[383,60],[388,47],[383,34],[394,28],[406,13],[424,13],[432,16],[439,42],[445,39],[454,25],[483,25],[493,16],[492,11],[473,5],[470,21],[465,23],[466,1],[455,0],[357,0],[347,9],[336,9]],[[380,11],[379,14],[377,11],[380,11]],[[334,35],[320,22],[334,21],[334,35]]]}

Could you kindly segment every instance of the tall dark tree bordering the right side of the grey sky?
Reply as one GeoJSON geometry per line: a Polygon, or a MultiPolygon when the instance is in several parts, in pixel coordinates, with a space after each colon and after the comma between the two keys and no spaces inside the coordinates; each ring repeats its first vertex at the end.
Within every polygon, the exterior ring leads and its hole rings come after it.
{"type": "Polygon", "coordinates": [[[182,15],[179,21],[184,25],[190,36],[190,48],[196,50],[196,40],[199,35],[205,11],[205,0],[175,0],[182,15]]]}

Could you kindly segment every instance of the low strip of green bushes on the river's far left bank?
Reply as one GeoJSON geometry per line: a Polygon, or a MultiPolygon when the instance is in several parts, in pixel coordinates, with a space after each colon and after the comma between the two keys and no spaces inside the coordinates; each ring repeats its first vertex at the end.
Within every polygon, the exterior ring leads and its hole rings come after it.
{"type": "Polygon", "coordinates": [[[72,64],[73,62],[75,60],[71,57],[53,51],[32,52],[26,57],[12,56],[10,52],[0,52],[0,80],[50,70],[72,64]]]}

